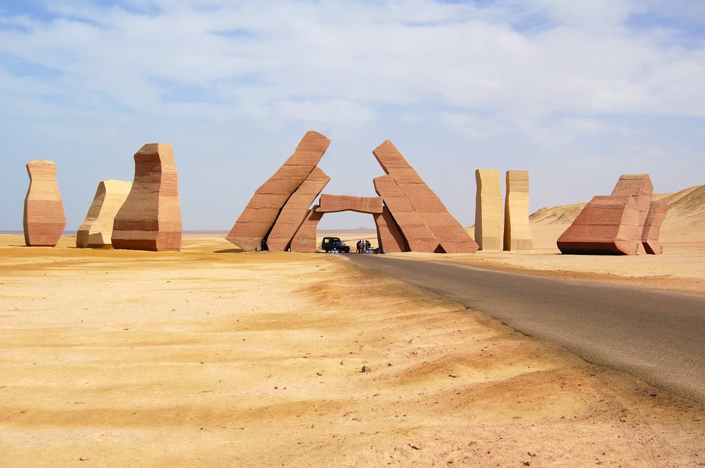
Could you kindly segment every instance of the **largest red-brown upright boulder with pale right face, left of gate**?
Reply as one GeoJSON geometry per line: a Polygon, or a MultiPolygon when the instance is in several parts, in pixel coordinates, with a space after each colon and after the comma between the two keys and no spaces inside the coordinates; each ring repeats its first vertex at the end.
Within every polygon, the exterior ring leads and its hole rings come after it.
{"type": "Polygon", "coordinates": [[[135,181],[115,216],[114,248],[181,250],[181,208],[173,148],[149,143],[135,153],[135,181]]]}

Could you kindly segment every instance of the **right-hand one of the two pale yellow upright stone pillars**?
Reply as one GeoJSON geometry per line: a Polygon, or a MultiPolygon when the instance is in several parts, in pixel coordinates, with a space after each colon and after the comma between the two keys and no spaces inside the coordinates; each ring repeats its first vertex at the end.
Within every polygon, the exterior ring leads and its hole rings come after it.
{"type": "Polygon", "coordinates": [[[507,171],[507,195],[504,201],[504,250],[533,250],[534,241],[529,226],[528,171],[507,171]]]}

